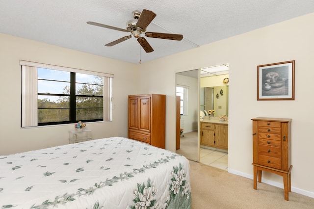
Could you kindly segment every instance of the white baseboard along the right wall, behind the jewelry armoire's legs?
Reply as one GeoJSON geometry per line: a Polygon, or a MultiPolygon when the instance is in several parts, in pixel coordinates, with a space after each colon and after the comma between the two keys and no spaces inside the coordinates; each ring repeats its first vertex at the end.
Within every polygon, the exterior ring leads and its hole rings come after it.
{"type": "MultiPolygon", "coordinates": [[[[228,168],[228,173],[235,174],[235,175],[242,176],[242,177],[245,177],[245,178],[253,180],[253,175],[242,173],[242,172],[230,169],[230,168],[228,168]]],[[[272,185],[272,186],[276,186],[276,187],[279,187],[279,188],[284,188],[284,183],[278,183],[278,182],[274,182],[274,181],[269,181],[269,180],[263,179],[263,178],[262,178],[262,183],[267,183],[267,184],[272,185]]],[[[299,189],[299,188],[296,188],[296,187],[293,187],[293,186],[291,186],[291,191],[295,192],[295,193],[298,193],[298,194],[302,194],[302,195],[314,198],[314,192],[306,191],[304,189],[299,189]]]]}

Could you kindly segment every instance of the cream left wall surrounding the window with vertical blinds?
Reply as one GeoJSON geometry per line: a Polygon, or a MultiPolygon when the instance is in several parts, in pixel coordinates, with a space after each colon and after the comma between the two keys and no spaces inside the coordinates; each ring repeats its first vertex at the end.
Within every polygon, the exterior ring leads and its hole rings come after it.
{"type": "Polygon", "coordinates": [[[137,66],[88,53],[0,34],[0,155],[68,143],[74,124],[21,129],[19,60],[114,74],[112,122],[87,123],[93,138],[128,136],[128,95],[137,93],[137,66]]]}

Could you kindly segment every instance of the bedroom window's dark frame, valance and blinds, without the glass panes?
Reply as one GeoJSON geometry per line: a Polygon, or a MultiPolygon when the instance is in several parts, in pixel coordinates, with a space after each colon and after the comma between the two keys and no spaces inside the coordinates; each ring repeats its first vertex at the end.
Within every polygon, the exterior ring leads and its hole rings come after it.
{"type": "Polygon", "coordinates": [[[100,73],[95,71],[87,71],[87,70],[81,70],[81,69],[75,69],[75,68],[67,68],[67,67],[61,67],[61,66],[55,66],[55,65],[48,65],[48,64],[42,64],[42,63],[36,63],[36,62],[29,62],[20,60],[20,65],[22,69],[22,109],[21,109],[21,127],[40,127],[40,126],[49,126],[49,125],[59,125],[59,124],[73,124],[78,122],[79,120],[76,120],[76,97],[97,97],[97,98],[103,98],[103,119],[87,119],[84,120],[84,122],[97,122],[97,121],[112,121],[112,74],[106,74],[106,73],[100,73]],[[33,71],[36,71],[35,73],[31,73],[31,77],[33,78],[27,78],[27,69],[31,69],[33,71]],[[37,90],[37,68],[45,68],[45,69],[51,69],[51,70],[59,70],[59,71],[67,71],[70,72],[70,94],[62,94],[62,96],[69,96],[70,97],[70,106],[69,106],[69,121],[58,121],[58,122],[45,122],[45,123],[38,123],[38,107],[37,107],[37,98],[38,95],[49,95],[49,96],[59,96],[58,94],[51,94],[51,93],[38,93],[37,90]],[[104,77],[104,83],[103,83],[103,95],[79,95],[76,94],[76,79],[75,75],[76,73],[80,74],[88,74],[93,76],[101,76],[104,77]],[[35,82],[36,76],[36,84],[30,83],[35,82]],[[27,86],[27,85],[30,85],[27,86]],[[32,89],[32,90],[29,90],[32,89]],[[32,91],[32,92],[30,92],[32,91]],[[35,93],[36,92],[36,93],[35,93]],[[30,95],[30,96],[29,96],[30,95]],[[36,97],[36,100],[35,98],[36,97]],[[32,100],[30,104],[27,104],[27,100],[32,100]],[[36,101],[36,102],[35,102],[36,101]],[[73,102],[74,101],[74,102],[73,102]],[[71,104],[72,103],[72,104],[71,104]],[[35,107],[36,106],[36,107],[35,107]],[[30,113],[28,113],[30,112],[30,113]]]}

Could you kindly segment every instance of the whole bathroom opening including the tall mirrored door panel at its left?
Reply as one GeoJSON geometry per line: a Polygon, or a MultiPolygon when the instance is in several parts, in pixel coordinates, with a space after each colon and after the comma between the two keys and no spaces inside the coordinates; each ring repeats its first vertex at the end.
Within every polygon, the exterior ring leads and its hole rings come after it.
{"type": "Polygon", "coordinates": [[[229,115],[229,65],[215,68],[220,71],[207,68],[176,74],[176,152],[190,160],[227,170],[228,121],[220,121],[218,116],[229,115]],[[209,115],[209,110],[214,114],[209,115]],[[201,112],[203,119],[200,119],[201,112]],[[212,128],[208,129],[206,123],[212,128]],[[217,155],[221,157],[215,158],[217,155]]]}

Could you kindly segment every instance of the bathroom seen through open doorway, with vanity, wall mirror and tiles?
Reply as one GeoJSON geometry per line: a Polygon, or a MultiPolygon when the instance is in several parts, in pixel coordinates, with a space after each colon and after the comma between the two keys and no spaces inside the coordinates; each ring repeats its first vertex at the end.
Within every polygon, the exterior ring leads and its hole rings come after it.
{"type": "Polygon", "coordinates": [[[201,69],[200,110],[207,115],[202,118],[200,112],[199,161],[223,170],[228,170],[228,98],[229,65],[201,69]]]}

